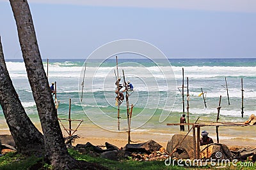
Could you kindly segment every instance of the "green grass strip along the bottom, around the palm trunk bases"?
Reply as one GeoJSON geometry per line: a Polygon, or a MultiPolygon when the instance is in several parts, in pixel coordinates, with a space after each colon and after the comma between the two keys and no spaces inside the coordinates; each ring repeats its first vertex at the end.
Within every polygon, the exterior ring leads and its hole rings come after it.
{"type": "MultiPolygon", "coordinates": [[[[102,159],[100,157],[92,157],[90,155],[81,154],[76,150],[68,150],[70,155],[77,160],[86,160],[87,162],[93,162],[96,164],[100,164],[102,166],[108,167],[108,169],[147,169],[147,170],[156,170],[156,169],[216,169],[216,167],[179,167],[179,166],[165,166],[164,161],[134,161],[134,160],[122,160],[122,161],[114,161],[108,159],[102,159]]],[[[237,167],[230,166],[224,167],[221,169],[256,169],[256,162],[246,162],[246,167],[242,167],[245,162],[237,162],[237,167]]],[[[8,153],[3,157],[0,157],[0,170],[13,170],[13,169],[29,169],[33,167],[33,169],[52,169],[49,164],[46,164],[42,158],[38,157],[26,157],[19,153],[8,153]],[[36,168],[35,168],[35,165],[36,168]]]]}

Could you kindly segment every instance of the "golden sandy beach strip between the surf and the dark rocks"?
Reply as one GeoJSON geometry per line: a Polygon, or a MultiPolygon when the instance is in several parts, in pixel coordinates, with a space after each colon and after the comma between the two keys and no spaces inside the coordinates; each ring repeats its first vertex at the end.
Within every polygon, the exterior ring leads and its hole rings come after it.
{"type": "MultiPolygon", "coordinates": [[[[35,124],[38,129],[40,129],[40,124],[35,124]]],[[[65,124],[64,124],[65,125],[65,124]]],[[[76,125],[74,125],[75,127],[76,125]]],[[[243,131],[253,132],[253,127],[220,127],[220,143],[223,143],[229,147],[232,146],[255,146],[256,137],[255,134],[252,133],[252,136],[243,135],[243,131]],[[241,131],[241,134],[237,134],[236,132],[241,131]],[[232,133],[235,132],[235,133],[232,133]]],[[[187,127],[186,127],[187,129],[187,127]]],[[[67,132],[63,130],[63,136],[67,136],[67,132]]],[[[131,132],[131,140],[132,143],[143,143],[150,139],[156,141],[161,146],[166,148],[168,140],[172,139],[173,134],[184,134],[186,135],[188,131],[180,132],[179,127],[177,126],[166,126],[166,133],[163,133],[163,130],[154,130],[151,131],[139,131],[137,129],[131,132]]],[[[214,128],[208,128],[209,136],[213,139],[214,143],[216,143],[216,134],[214,128]]],[[[10,134],[8,131],[8,127],[4,120],[1,120],[1,131],[0,134],[10,134]],[[5,128],[3,128],[5,127],[5,128]]],[[[91,122],[86,122],[82,124],[76,134],[80,137],[76,139],[74,146],[79,144],[85,144],[87,142],[92,143],[93,145],[104,146],[105,142],[111,143],[113,145],[118,146],[119,148],[124,147],[127,144],[127,133],[126,132],[111,132],[97,125],[92,124],[91,122]]],[[[189,133],[192,136],[192,132],[189,133]]]]}

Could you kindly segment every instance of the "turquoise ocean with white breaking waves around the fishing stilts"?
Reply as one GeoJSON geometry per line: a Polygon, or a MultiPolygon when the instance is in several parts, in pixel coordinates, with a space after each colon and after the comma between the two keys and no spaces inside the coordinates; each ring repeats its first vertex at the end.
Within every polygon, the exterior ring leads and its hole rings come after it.
{"type": "MultiPolygon", "coordinates": [[[[44,61],[47,71],[47,61],[44,61]]],[[[117,130],[115,105],[116,60],[87,60],[84,76],[83,101],[81,91],[85,59],[49,59],[49,83],[56,81],[57,99],[60,101],[58,116],[67,118],[69,99],[72,99],[73,119],[83,119],[83,124],[95,124],[107,131],[117,130]]],[[[132,110],[131,128],[134,132],[151,132],[158,135],[174,134],[179,127],[166,126],[179,123],[182,115],[182,68],[184,68],[185,113],[187,107],[187,77],[189,80],[189,122],[216,122],[221,97],[219,122],[244,122],[255,114],[256,59],[168,59],[151,60],[139,57],[125,59],[118,56],[118,77],[131,81],[134,92],[129,92],[132,110]],[[227,90],[225,85],[227,78],[227,90]],[[244,89],[244,118],[241,117],[241,78],[244,89]],[[205,108],[201,93],[206,97],[205,108]]],[[[28,83],[22,60],[6,60],[8,71],[26,113],[35,124],[39,123],[36,105],[28,83]]],[[[124,92],[125,94],[125,92],[124,92]]],[[[127,130],[125,101],[120,105],[120,131],[127,130]]],[[[0,110],[0,130],[8,128],[0,110]]],[[[222,129],[222,128],[221,128],[222,129]]],[[[243,128],[242,128],[243,129],[243,128]]],[[[208,130],[208,129],[207,129],[208,130]]],[[[209,128],[210,134],[214,129],[209,128]]],[[[246,138],[250,132],[223,127],[223,138],[246,138]],[[236,135],[234,135],[234,133],[236,135]],[[233,136],[233,137],[232,137],[233,136]]]]}

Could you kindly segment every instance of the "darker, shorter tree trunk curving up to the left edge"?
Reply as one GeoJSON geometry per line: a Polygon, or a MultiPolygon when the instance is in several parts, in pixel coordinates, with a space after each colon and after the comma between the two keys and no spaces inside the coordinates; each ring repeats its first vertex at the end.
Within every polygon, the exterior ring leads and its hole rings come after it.
{"type": "Polygon", "coordinates": [[[0,103],[18,152],[44,152],[43,135],[36,129],[20,103],[4,61],[0,37],[0,103]]]}

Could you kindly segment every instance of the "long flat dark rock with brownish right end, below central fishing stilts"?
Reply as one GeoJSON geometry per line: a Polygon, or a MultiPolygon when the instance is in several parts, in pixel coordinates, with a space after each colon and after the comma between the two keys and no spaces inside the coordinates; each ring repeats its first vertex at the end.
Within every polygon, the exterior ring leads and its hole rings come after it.
{"type": "Polygon", "coordinates": [[[141,152],[141,153],[148,153],[158,151],[162,148],[161,145],[156,143],[156,141],[150,140],[145,143],[138,143],[138,144],[127,144],[125,145],[124,150],[127,152],[141,152]]]}

